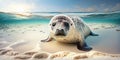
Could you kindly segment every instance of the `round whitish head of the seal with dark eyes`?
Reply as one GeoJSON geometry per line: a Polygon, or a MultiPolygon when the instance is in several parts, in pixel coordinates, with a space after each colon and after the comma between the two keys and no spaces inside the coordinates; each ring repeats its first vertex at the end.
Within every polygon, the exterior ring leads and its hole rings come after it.
{"type": "Polygon", "coordinates": [[[63,14],[54,16],[50,21],[51,32],[55,36],[66,36],[72,25],[71,18],[63,14]]]}

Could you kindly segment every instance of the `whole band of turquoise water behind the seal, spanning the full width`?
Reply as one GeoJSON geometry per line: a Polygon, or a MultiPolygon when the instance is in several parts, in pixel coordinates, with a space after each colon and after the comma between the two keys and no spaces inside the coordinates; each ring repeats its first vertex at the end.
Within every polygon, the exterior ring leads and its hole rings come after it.
{"type": "MultiPolygon", "coordinates": [[[[61,13],[33,13],[32,16],[17,16],[11,13],[0,12],[0,25],[4,24],[48,24],[51,17],[61,13]],[[37,15],[35,15],[37,14],[37,15]],[[44,14],[44,16],[42,16],[44,14]],[[49,16],[49,17],[48,17],[49,16]]],[[[112,23],[120,25],[120,12],[116,13],[62,13],[76,15],[87,23],[112,23]]]]}

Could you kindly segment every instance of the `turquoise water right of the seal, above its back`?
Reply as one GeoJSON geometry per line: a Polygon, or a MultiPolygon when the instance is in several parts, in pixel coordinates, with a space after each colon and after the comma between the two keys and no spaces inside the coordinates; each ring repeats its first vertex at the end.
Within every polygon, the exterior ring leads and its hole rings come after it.
{"type": "Polygon", "coordinates": [[[92,14],[83,17],[86,22],[90,23],[112,23],[120,25],[120,13],[111,14],[92,14]]]}

